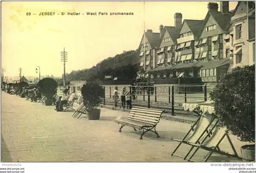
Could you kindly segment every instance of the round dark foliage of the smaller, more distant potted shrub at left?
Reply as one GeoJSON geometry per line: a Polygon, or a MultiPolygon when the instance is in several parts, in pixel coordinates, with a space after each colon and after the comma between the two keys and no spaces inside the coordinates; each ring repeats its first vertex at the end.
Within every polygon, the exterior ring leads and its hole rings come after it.
{"type": "Polygon", "coordinates": [[[44,78],[38,81],[39,92],[45,95],[47,99],[51,99],[56,93],[58,83],[53,78],[44,78]]]}

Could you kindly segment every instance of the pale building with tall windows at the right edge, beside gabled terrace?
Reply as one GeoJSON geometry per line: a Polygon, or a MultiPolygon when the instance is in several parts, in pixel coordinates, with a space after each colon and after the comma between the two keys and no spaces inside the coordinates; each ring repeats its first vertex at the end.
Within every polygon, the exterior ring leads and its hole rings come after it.
{"type": "Polygon", "coordinates": [[[255,63],[255,2],[240,1],[233,10],[229,31],[230,56],[233,67],[242,67],[255,63]]]}

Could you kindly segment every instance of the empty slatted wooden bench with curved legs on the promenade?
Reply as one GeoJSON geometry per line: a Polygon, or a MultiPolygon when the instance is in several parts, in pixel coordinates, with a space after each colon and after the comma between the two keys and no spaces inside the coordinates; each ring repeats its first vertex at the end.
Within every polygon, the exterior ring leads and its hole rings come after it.
{"type": "Polygon", "coordinates": [[[133,127],[135,131],[137,131],[136,128],[142,129],[140,139],[148,131],[154,132],[159,137],[156,132],[156,125],[160,121],[163,112],[163,110],[135,106],[132,107],[125,119],[116,119],[115,122],[121,124],[119,132],[121,132],[123,126],[127,125],[133,127]],[[154,131],[152,130],[153,128],[154,131]]]}

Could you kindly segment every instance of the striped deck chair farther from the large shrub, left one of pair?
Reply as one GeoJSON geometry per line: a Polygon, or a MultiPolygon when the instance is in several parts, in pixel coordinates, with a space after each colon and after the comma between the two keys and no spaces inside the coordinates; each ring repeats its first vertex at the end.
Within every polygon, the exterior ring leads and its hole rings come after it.
{"type": "MultiPolygon", "coordinates": [[[[188,144],[188,143],[200,144],[200,141],[202,141],[202,137],[204,136],[204,134],[205,135],[207,134],[207,136],[210,137],[211,131],[209,128],[213,128],[211,126],[214,123],[214,121],[216,121],[215,124],[218,123],[218,121],[219,121],[218,119],[216,119],[215,115],[211,115],[211,114],[201,115],[197,119],[197,121],[191,126],[191,128],[189,129],[189,131],[183,137],[182,140],[170,138],[174,141],[180,142],[178,144],[178,146],[174,149],[172,156],[178,156],[185,160],[194,147],[191,147],[191,149],[189,150],[189,152],[187,153],[186,156],[180,156],[180,155],[175,154],[177,149],[181,146],[182,143],[184,143],[184,144],[188,144]]],[[[215,126],[215,124],[213,126],[215,126]]],[[[206,139],[207,139],[207,136],[205,137],[206,139]]]]}

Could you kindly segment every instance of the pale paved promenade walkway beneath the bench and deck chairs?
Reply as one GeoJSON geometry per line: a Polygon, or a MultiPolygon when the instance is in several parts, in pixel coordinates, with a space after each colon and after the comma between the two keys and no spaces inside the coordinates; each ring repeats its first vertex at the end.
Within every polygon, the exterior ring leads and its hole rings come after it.
{"type": "MultiPolygon", "coordinates": [[[[24,98],[2,92],[1,148],[4,162],[65,162],[65,161],[132,161],[181,162],[170,156],[190,125],[162,119],[157,127],[160,138],[146,133],[140,140],[140,131],[124,127],[118,132],[113,120],[127,113],[101,109],[98,121],[85,117],[72,118],[72,112],[56,112],[54,106],[31,103],[24,98]]],[[[237,151],[242,143],[231,136],[237,151]]],[[[188,146],[182,145],[178,154],[184,155],[188,146]]],[[[221,149],[231,152],[227,142],[221,149]]],[[[200,151],[195,160],[202,160],[200,151]]],[[[214,155],[209,161],[236,161],[214,155]]]]}

